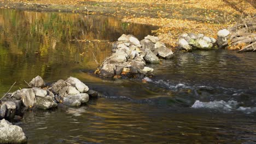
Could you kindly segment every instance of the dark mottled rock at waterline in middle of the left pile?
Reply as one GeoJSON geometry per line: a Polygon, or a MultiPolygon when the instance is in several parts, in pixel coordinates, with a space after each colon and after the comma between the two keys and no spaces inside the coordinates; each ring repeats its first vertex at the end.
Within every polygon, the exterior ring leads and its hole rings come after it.
{"type": "Polygon", "coordinates": [[[36,97],[34,107],[38,109],[50,109],[56,107],[57,103],[54,101],[53,97],[46,95],[45,97],[36,97]]]}

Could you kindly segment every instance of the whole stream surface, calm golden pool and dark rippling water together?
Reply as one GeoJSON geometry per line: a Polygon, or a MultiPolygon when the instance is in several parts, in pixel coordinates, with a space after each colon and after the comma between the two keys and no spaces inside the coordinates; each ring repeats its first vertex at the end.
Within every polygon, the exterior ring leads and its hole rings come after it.
{"type": "Polygon", "coordinates": [[[41,75],[78,77],[104,94],[82,107],[29,111],[16,123],[28,143],[256,143],[256,53],[176,53],[155,76],[103,80],[91,74],[123,33],[154,29],[113,17],[0,10],[0,93],[41,75]],[[89,39],[89,42],[72,41],[89,39]],[[101,40],[101,41],[98,41],[101,40]]]}

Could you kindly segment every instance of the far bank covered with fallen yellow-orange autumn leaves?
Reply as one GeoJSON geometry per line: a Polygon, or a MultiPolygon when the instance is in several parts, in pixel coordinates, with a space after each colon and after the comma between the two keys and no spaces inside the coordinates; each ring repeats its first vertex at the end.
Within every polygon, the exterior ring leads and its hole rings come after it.
{"type": "MultiPolygon", "coordinates": [[[[1,1],[0,1],[1,2],[1,1]]],[[[2,1],[1,8],[60,11],[118,17],[124,22],[159,26],[160,40],[176,46],[181,33],[202,33],[217,38],[219,29],[231,26],[241,17],[255,15],[254,1],[2,1]]],[[[138,29],[139,31],[139,29],[138,29]]]]}

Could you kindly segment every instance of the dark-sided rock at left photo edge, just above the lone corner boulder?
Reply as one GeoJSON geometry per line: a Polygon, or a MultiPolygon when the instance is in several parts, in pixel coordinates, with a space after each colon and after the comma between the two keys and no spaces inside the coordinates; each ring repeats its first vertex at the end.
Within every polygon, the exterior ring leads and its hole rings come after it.
{"type": "Polygon", "coordinates": [[[4,101],[1,105],[1,110],[5,111],[3,118],[12,119],[15,116],[16,104],[13,101],[4,101]]]}

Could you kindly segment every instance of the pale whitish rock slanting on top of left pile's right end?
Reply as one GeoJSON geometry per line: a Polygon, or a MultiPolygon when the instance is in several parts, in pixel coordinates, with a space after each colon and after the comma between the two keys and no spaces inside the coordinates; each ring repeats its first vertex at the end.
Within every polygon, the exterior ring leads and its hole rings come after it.
{"type": "Polygon", "coordinates": [[[77,90],[81,93],[83,92],[88,92],[89,91],[89,87],[86,86],[82,81],[78,80],[75,77],[68,77],[68,79],[66,80],[66,82],[70,83],[72,86],[74,86],[75,88],[77,88],[77,90]]]}

